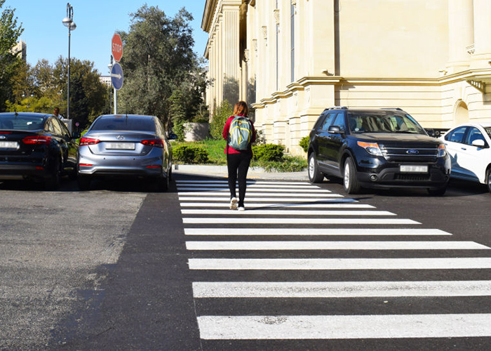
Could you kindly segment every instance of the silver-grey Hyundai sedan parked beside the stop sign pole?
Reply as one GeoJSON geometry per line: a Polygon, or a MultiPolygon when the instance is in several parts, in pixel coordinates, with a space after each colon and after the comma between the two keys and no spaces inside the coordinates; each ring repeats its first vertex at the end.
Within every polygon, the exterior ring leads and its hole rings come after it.
{"type": "Polygon", "coordinates": [[[154,116],[106,114],[97,117],[80,139],[78,183],[90,187],[96,177],[134,177],[167,190],[172,175],[172,147],[154,116]]]}

